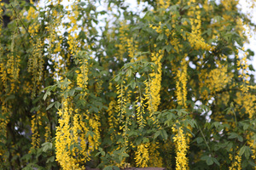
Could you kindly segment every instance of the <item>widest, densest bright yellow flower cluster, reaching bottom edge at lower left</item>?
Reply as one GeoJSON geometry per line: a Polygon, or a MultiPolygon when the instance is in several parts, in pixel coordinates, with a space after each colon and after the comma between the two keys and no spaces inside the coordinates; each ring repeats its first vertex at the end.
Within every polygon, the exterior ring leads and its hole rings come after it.
{"type": "MultiPolygon", "coordinates": [[[[64,170],[85,169],[84,167],[79,167],[79,161],[86,161],[90,153],[82,152],[83,159],[78,159],[79,155],[77,153],[79,153],[79,149],[76,144],[84,151],[87,141],[84,138],[79,139],[78,130],[87,133],[89,129],[86,126],[79,126],[79,115],[73,114],[74,111],[70,106],[70,102],[70,99],[63,99],[62,108],[58,111],[61,118],[58,120],[59,126],[56,127],[56,161],[61,164],[64,170]]],[[[84,133],[81,134],[81,137],[84,137],[84,133]]]]}

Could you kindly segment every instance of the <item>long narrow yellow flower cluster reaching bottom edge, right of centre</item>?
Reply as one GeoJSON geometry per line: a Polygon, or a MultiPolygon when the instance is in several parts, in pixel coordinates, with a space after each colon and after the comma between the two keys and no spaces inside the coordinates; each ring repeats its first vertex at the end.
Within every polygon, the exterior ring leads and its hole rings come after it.
{"type": "Polygon", "coordinates": [[[186,138],[183,133],[183,128],[172,127],[172,132],[177,133],[175,137],[173,137],[173,141],[176,144],[176,170],[186,170],[188,169],[188,158],[187,158],[187,151],[188,151],[188,144],[186,143],[186,138]]]}

